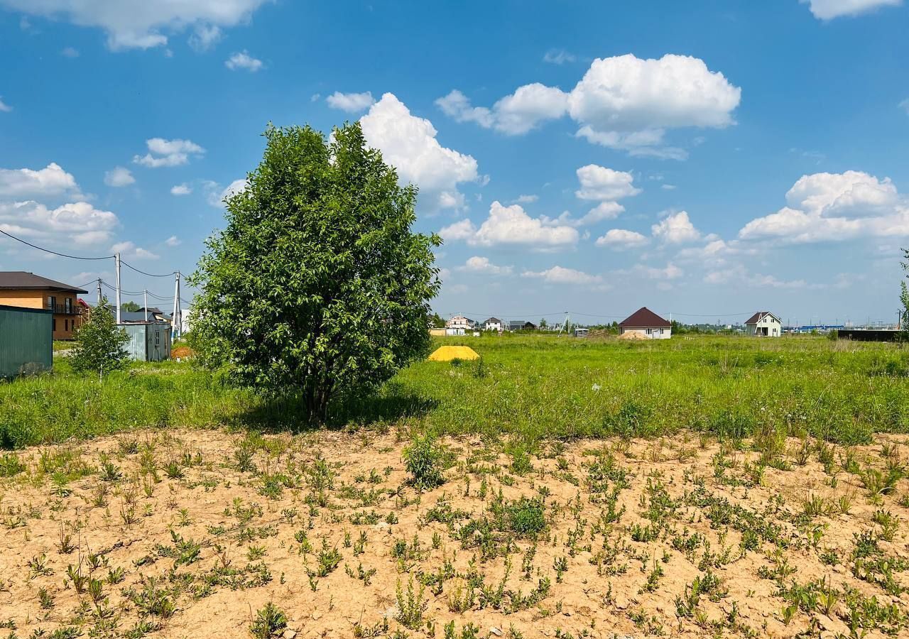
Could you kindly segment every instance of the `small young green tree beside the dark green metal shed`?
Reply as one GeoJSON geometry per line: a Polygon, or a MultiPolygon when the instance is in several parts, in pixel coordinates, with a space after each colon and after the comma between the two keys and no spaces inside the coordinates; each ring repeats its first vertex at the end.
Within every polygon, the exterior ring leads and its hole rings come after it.
{"type": "Polygon", "coordinates": [[[92,309],[91,319],[75,332],[75,348],[69,363],[78,372],[91,371],[103,377],[129,364],[125,350],[129,335],[116,325],[116,318],[107,305],[107,298],[92,309]]]}

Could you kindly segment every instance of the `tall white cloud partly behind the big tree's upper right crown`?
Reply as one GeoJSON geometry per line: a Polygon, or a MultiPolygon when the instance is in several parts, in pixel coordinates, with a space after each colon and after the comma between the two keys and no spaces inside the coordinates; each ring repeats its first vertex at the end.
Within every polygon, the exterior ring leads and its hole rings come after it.
{"type": "Polygon", "coordinates": [[[440,145],[433,124],[411,115],[394,94],[386,93],[372,105],[360,125],[366,141],[395,166],[398,177],[420,188],[429,209],[460,206],[457,185],[478,177],[473,156],[440,145]]]}

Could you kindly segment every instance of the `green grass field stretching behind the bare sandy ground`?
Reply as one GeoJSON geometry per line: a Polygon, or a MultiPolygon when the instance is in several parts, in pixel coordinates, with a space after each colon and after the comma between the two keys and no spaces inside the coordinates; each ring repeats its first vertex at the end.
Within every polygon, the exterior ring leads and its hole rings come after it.
{"type": "MultiPolygon", "coordinates": [[[[909,430],[909,350],[821,337],[674,337],[661,342],[539,335],[445,338],[478,362],[421,362],[375,397],[337,404],[331,426],[544,439],[681,429],[741,438],[811,434],[856,444],[909,430]]],[[[192,364],[135,364],[99,383],[68,369],[0,384],[0,446],[155,426],[299,430],[293,401],[268,402],[192,364]]]]}

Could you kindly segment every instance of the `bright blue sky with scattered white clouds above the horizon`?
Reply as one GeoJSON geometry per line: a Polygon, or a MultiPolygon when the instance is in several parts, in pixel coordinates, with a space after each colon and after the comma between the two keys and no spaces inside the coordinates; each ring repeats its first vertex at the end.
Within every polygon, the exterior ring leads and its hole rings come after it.
{"type": "Polygon", "coordinates": [[[889,320],[907,33],[900,0],[0,0],[0,228],[191,273],[268,122],[363,118],[445,238],[443,315],[889,320]]]}

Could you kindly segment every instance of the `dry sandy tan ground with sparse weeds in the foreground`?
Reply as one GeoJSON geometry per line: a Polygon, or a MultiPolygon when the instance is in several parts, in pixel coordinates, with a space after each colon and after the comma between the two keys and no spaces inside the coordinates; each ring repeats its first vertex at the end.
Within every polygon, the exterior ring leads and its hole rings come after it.
{"type": "Polygon", "coordinates": [[[517,462],[447,440],[422,492],[394,434],[30,449],[0,457],[0,622],[248,636],[272,602],[287,637],[909,636],[905,438],[810,444],[762,474],[749,443],[695,435],[517,462]]]}

